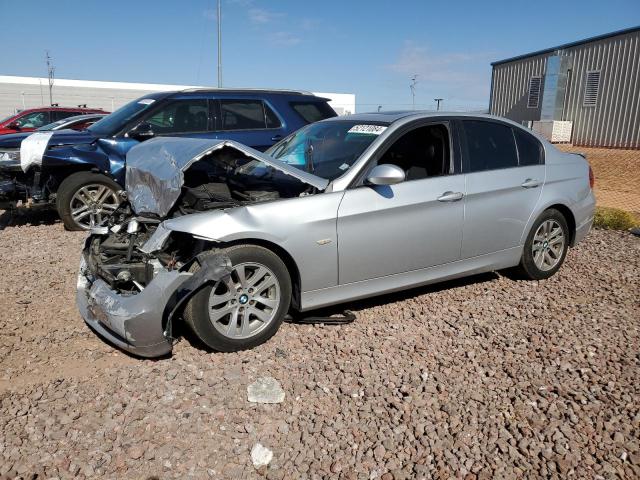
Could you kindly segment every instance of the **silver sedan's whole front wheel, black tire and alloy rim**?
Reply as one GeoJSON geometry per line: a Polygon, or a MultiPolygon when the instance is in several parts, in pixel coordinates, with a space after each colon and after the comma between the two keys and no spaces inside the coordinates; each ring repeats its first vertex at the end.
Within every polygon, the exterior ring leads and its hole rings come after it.
{"type": "MultiPolygon", "coordinates": [[[[193,333],[213,350],[236,352],[253,348],[275,335],[289,310],[289,271],[278,255],[264,247],[241,244],[208,254],[219,253],[231,259],[234,272],[230,283],[221,281],[197,292],[185,307],[184,319],[193,333]],[[238,276],[241,271],[245,272],[244,288],[238,276]],[[264,280],[254,279],[254,275],[260,274],[264,274],[264,280]],[[273,286],[260,289],[272,280],[273,286]],[[257,288],[251,288],[252,281],[258,282],[257,288]],[[262,303],[267,300],[269,305],[262,303]]],[[[195,265],[192,270],[198,268],[195,265]]]]}

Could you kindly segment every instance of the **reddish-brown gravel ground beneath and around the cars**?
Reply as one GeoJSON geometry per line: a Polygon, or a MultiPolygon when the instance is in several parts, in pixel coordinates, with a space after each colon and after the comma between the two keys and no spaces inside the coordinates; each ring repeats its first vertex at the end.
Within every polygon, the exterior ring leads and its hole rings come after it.
{"type": "Polygon", "coordinates": [[[2,478],[640,478],[630,234],[592,232],[547,281],[448,282],[359,302],[351,325],[150,361],[76,313],[84,235],[27,220],[0,231],[2,478]],[[284,402],[247,401],[264,376],[284,402]]]}

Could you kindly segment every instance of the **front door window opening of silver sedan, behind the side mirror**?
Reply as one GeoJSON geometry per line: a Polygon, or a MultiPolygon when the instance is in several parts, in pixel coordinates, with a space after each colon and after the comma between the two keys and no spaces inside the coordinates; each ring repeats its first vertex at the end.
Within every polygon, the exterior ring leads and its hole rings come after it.
{"type": "Polygon", "coordinates": [[[443,124],[415,128],[396,140],[378,160],[404,170],[406,180],[421,180],[451,173],[449,131],[443,124]]]}

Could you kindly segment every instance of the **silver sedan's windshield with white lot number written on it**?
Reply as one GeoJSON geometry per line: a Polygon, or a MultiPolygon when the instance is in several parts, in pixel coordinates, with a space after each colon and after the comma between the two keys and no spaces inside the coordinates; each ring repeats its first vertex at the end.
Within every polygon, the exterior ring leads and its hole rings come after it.
{"type": "Polygon", "coordinates": [[[265,153],[286,164],[334,180],[345,173],[387,125],[332,121],[308,125],[265,153]]]}

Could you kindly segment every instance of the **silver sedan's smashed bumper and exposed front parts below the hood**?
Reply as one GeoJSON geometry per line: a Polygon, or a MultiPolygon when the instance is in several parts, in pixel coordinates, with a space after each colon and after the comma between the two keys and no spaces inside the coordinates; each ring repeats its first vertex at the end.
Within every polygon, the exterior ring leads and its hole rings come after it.
{"type": "Polygon", "coordinates": [[[96,229],[85,242],[78,275],[76,302],[87,324],[141,357],[170,353],[175,313],[200,288],[231,272],[227,257],[194,255],[193,243],[179,236],[153,255],[144,253],[157,228],[158,221],[131,217],[96,229]]]}

